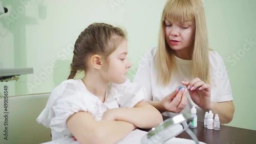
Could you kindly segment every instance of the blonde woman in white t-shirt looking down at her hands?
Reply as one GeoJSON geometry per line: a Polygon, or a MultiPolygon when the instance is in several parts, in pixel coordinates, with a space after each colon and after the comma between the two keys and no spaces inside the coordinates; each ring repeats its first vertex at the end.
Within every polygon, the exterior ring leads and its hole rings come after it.
{"type": "Polygon", "coordinates": [[[166,2],[158,47],[145,54],[134,82],[146,88],[147,102],[163,115],[190,113],[195,105],[198,121],[209,110],[219,114],[221,123],[231,121],[230,83],[223,59],[208,48],[201,0],[166,2]],[[184,88],[174,91],[178,85],[184,88]]]}

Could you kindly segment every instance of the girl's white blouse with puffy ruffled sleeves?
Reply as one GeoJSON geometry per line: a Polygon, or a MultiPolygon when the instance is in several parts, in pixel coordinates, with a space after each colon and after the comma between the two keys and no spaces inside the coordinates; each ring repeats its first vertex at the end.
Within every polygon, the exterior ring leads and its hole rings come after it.
{"type": "Polygon", "coordinates": [[[66,80],[54,88],[46,107],[36,121],[52,130],[52,140],[72,135],[66,125],[69,116],[79,111],[92,114],[100,121],[103,113],[112,108],[132,108],[144,101],[146,91],[128,79],[123,84],[110,83],[105,102],[90,93],[82,80],[66,80]]]}

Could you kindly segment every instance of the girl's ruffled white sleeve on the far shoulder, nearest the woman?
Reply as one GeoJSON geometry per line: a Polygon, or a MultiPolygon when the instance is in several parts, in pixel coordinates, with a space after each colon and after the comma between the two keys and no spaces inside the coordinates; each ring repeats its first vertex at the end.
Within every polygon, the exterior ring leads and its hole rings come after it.
{"type": "Polygon", "coordinates": [[[114,95],[120,108],[132,108],[137,103],[145,101],[146,90],[127,79],[123,84],[111,84],[111,94],[114,95]]]}

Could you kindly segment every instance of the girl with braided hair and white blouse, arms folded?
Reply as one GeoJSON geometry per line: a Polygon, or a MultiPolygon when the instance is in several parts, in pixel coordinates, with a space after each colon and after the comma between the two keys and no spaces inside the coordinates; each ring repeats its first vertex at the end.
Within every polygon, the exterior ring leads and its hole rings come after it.
{"type": "Polygon", "coordinates": [[[137,127],[160,124],[157,109],[144,102],[145,90],[126,79],[125,33],[93,23],[75,42],[69,80],[51,93],[37,122],[50,127],[52,140],[75,136],[80,143],[116,143],[137,127]],[[82,79],[73,79],[84,70],[82,79]]]}

